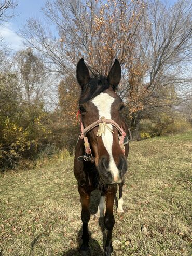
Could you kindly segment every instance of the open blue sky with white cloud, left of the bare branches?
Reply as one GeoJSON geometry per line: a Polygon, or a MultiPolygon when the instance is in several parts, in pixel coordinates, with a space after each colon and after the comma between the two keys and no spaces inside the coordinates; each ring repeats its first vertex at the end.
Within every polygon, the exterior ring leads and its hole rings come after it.
{"type": "MultiPolygon", "coordinates": [[[[168,0],[167,2],[173,4],[175,1],[176,0],[168,0]]],[[[26,19],[30,16],[36,18],[42,16],[41,8],[44,6],[46,0],[17,0],[17,2],[18,6],[15,9],[16,16],[0,26],[0,37],[3,38],[4,43],[14,51],[23,48],[22,38],[17,35],[17,32],[19,29],[23,28],[26,19]]]]}

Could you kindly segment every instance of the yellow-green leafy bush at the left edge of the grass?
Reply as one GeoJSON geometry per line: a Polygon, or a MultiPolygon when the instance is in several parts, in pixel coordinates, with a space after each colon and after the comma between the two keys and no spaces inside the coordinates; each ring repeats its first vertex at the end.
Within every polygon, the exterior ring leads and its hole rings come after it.
{"type": "Polygon", "coordinates": [[[47,141],[47,113],[42,107],[20,105],[12,116],[0,118],[0,168],[15,168],[21,158],[33,159],[47,141]]]}

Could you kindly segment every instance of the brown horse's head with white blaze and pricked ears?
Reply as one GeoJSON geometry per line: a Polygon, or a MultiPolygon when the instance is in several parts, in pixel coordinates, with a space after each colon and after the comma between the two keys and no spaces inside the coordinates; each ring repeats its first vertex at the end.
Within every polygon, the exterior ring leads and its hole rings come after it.
{"type": "MultiPolygon", "coordinates": [[[[99,119],[112,120],[126,129],[121,117],[124,103],[116,90],[121,78],[121,67],[116,59],[107,77],[90,77],[89,69],[81,59],[77,64],[77,80],[81,86],[79,110],[81,122],[86,128],[99,119]]],[[[101,132],[99,126],[87,134],[90,148],[95,159],[100,180],[104,184],[121,183],[127,171],[127,154],[119,143],[119,130],[110,122],[104,124],[101,132]],[[100,133],[100,134],[99,134],[100,133]]]]}

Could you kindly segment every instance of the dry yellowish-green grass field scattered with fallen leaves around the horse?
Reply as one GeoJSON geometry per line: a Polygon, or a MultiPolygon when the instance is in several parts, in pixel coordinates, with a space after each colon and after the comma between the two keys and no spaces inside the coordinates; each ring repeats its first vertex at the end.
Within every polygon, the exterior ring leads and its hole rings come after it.
{"type": "MultiPolygon", "coordinates": [[[[192,132],[130,143],[123,215],[116,213],[113,255],[191,255],[192,132]]],[[[105,230],[91,201],[91,255],[103,255],[105,230]]],[[[0,255],[78,255],[80,200],[73,158],[7,172],[0,181],[0,255]]]]}

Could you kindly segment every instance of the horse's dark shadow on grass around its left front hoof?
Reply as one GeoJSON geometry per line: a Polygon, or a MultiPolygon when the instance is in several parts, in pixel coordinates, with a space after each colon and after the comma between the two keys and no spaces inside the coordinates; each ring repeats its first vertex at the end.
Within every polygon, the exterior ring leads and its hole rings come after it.
{"type": "MultiPolygon", "coordinates": [[[[90,234],[90,232],[89,232],[90,234]]],[[[77,242],[78,246],[77,248],[72,248],[66,252],[63,252],[62,256],[79,256],[79,248],[81,246],[81,236],[82,236],[82,227],[78,232],[77,235],[77,242]]],[[[90,247],[90,253],[88,254],[89,256],[103,256],[104,251],[101,249],[98,241],[93,239],[90,234],[90,239],[89,239],[89,247],[90,247]]]]}

